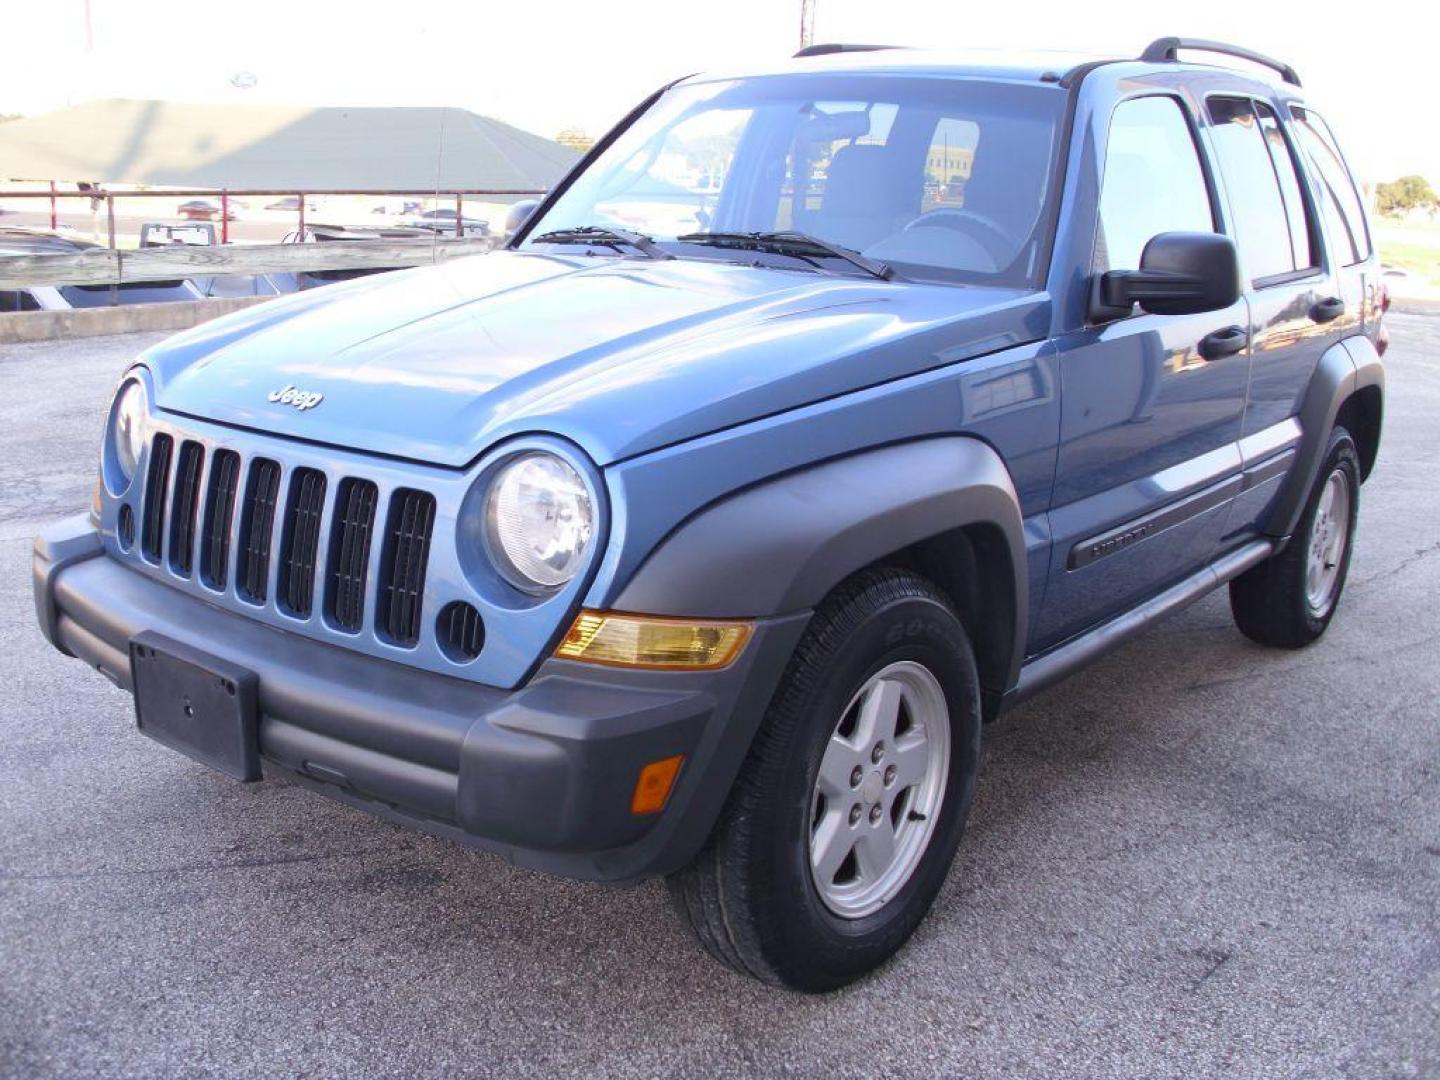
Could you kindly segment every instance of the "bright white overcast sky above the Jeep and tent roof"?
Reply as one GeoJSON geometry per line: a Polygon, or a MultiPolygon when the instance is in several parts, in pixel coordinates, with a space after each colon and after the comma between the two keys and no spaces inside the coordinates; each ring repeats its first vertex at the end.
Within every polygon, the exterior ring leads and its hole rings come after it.
{"type": "MultiPolygon", "coordinates": [[[[1440,17],[1430,4],[981,7],[815,0],[815,40],[1103,55],[1138,55],[1164,35],[1231,40],[1299,71],[1362,177],[1421,173],[1440,184],[1427,30],[1440,17]]],[[[49,0],[7,9],[0,114],[114,96],[454,105],[554,137],[570,127],[599,135],[677,76],[786,58],[798,46],[801,0],[49,0]]]]}

